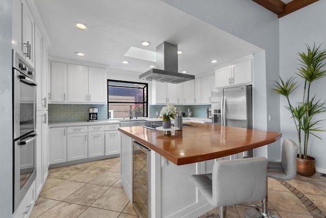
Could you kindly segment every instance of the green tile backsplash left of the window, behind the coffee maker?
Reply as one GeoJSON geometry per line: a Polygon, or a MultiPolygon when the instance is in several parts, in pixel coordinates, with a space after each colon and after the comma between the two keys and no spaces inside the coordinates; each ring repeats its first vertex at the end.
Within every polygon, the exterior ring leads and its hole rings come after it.
{"type": "Polygon", "coordinates": [[[88,121],[89,107],[98,108],[98,120],[107,120],[107,104],[49,104],[49,123],[88,121]]]}

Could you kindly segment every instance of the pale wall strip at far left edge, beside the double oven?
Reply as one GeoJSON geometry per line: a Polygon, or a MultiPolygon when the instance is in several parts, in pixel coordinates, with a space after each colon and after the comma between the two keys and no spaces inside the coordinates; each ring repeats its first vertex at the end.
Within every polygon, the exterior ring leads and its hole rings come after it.
{"type": "Polygon", "coordinates": [[[12,1],[0,4],[0,216],[12,216],[12,1]]]}

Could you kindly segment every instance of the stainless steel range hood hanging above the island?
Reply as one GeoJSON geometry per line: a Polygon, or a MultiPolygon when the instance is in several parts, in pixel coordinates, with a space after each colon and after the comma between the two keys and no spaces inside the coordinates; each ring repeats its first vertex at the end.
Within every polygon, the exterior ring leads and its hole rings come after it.
{"type": "Polygon", "coordinates": [[[195,79],[194,75],[178,73],[178,46],[163,42],[156,47],[156,69],[139,76],[140,79],[156,80],[162,83],[183,83],[195,79]]]}

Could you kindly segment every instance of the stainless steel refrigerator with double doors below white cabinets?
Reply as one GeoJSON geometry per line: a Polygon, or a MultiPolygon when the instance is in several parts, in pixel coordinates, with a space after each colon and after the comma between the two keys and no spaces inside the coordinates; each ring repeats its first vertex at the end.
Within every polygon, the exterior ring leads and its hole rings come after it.
{"type": "MultiPolygon", "coordinates": [[[[253,127],[251,85],[212,90],[211,100],[212,124],[249,129],[253,127]]],[[[243,155],[252,156],[252,151],[243,155]]],[[[234,158],[239,158],[239,155],[234,158]]]]}

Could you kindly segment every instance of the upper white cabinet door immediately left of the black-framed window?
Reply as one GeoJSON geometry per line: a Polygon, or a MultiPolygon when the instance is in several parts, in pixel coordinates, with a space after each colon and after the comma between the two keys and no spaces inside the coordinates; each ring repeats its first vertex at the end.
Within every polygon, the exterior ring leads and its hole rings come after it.
{"type": "Polygon", "coordinates": [[[107,84],[105,69],[89,67],[88,68],[88,102],[106,103],[107,84]]]}

